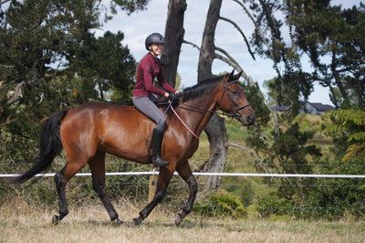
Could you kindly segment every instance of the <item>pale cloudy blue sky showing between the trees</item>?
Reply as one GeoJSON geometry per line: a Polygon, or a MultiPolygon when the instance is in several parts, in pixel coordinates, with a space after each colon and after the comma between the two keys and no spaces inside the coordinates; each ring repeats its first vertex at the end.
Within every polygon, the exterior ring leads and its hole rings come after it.
{"type": "MultiPolygon", "coordinates": [[[[184,39],[193,42],[198,47],[201,46],[203,27],[205,24],[206,13],[209,2],[206,0],[187,0],[187,9],[184,15],[184,39]]],[[[332,0],[332,5],[342,5],[342,7],[351,7],[360,5],[358,0],[332,0]]],[[[108,5],[108,4],[107,4],[108,5]]],[[[146,55],[144,48],[145,38],[153,32],[164,33],[168,10],[168,1],[152,0],[147,6],[147,10],[138,11],[128,16],[125,12],[119,10],[117,16],[114,16],[101,29],[96,31],[96,36],[101,36],[107,30],[111,32],[121,31],[124,33],[123,46],[130,48],[130,53],[137,60],[146,55]]],[[[221,8],[221,16],[230,18],[244,30],[247,37],[253,32],[254,25],[248,19],[242,7],[234,1],[224,0],[221,8]]],[[[224,48],[244,69],[245,73],[254,81],[258,82],[262,90],[263,82],[267,79],[276,77],[273,69],[273,62],[270,59],[260,58],[255,55],[255,60],[249,55],[245,42],[234,26],[224,21],[219,21],[216,28],[215,45],[224,48]]],[[[178,73],[182,77],[182,85],[186,87],[193,86],[197,83],[197,66],[199,51],[191,45],[183,44],[181,56],[179,59],[178,73]]],[[[311,69],[308,58],[303,62],[304,69],[311,69]]],[[[224,62],[215,59],[213,63],[213,72],[218,74],[224,71],[232,71],[232,67],[224,62]]],[[[328,97],[328,89],[315,85],[314,92],[309,97],[310,102],[321,102],[331,104],[328,97]]]]}

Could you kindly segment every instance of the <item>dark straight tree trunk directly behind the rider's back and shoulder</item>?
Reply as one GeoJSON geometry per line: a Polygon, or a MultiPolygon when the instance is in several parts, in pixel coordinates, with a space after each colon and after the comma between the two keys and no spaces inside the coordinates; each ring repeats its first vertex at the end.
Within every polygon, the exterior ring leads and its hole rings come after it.
{"type": "Polygon", "coordinates": [[[164,45],[161,61],[162,73],[166,81],[175,87],[177,65],[183,44],[183,15],[186,10],[186,0],[170,0],[165,26],[166,44],[164,45]]]}

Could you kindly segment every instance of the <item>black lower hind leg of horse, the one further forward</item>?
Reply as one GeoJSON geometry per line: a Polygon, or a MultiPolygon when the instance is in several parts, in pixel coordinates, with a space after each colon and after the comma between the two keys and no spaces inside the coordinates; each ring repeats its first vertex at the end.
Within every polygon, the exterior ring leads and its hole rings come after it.
{"type": "Polygon", "coordinates": [[[99,195],[101,203],[107,209],[110,216],[110,220],[114,221],[117,219],[118,226],[124,222],[118,217],[118,213],[111,205],[110,198],[108,197],[105,189],[105,153],[97,153],[94,157],[89,160],[89,166],[92,174],[92,187],[95,192],[99,195]]]}

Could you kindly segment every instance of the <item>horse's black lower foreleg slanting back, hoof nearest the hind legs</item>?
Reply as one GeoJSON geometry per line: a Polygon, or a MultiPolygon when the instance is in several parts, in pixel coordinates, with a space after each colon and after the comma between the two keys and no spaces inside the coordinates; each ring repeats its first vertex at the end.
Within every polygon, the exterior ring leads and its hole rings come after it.
{"type": "Polygon", "coordinates": [[[146,207],[143,208],[143,210],[141,210],[140,217],[136,217],[133,219],[133,221],[131,222],[132,226],[139,226],[143,219],[150,215],[153,208],[162,201],[163,195],[165,195],[166,193],[166,189],[170,183],[172,175],[173,170],[169,170],[166,167],[160,168],[159,179],[156,186],[156,193],[153,196],[151,203],[149,203],[146,207]]]}

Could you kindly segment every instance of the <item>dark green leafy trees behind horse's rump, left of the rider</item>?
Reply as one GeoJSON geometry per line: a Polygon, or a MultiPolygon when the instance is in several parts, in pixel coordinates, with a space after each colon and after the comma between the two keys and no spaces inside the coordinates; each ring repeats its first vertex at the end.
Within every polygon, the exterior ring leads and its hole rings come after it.
{"type": "MultiPolygon", "coordinates": [[[[118,5],[129,12],[142,9],[147,2],[112,2],[112,12],[118,5]]],[[[135,61],[120,45],[123,35],[92,33],[111,17],[100,19],[103,9],[95,0],[12,1],[0,9],[3,158],[33,157],[39,122],[52,112],[104,100],[110,88],[131,90],[135,61]]]]}

